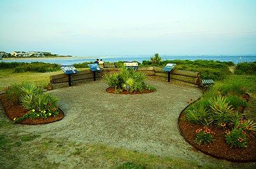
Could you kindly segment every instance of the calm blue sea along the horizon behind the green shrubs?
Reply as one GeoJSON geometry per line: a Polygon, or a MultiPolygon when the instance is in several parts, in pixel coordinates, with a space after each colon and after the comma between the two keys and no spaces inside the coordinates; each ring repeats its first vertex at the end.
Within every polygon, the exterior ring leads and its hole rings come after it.
{"type": "MultiPolygon", "coordinates": [[[[71,65],[74,63],[83,63],[83,62],[90,62],[95,61],[96,58],[99,58],[103,61],[108,62],[117,62],[117,61],[138,61],[142,63],[143,60],[150,60],[152,56],[98,56],[98,57],[66,57],[66,58],[26,58],[26,59],[5,59],[2,60],[3,62],[10,63],[10,62],[24,62],[24,63],[32,63],[36,61],[44,62],[44,63],[57,63],[60,65],[71,65]]],[[[162,60],[214,60],[214,61],[232,61],[234,64],[240,62],[253,62],[256,61],[256,56],[253,54],[247,55],[161,55],[162,60]]]]}

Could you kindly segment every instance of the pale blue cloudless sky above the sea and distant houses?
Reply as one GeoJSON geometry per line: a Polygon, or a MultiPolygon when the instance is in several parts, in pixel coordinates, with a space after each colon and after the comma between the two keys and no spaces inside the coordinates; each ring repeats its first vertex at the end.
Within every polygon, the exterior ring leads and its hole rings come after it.
{"type": "Polygon", "coordinates": [[[0,0],[0,51],[255,54],[255,0],[0,0]]]}

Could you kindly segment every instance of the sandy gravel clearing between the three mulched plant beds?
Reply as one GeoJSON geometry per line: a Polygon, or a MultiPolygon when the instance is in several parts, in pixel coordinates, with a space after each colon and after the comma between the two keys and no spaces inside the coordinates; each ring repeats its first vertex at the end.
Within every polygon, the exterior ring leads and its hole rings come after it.
{"type": "MultiPolygon", "coordinates": [[[[156,156],[194,160],[202,166],[218,161],[189,145],[177,126],[180,112],[190,99],[200,98],[200,89],[152,79],[148,83],[157,91],[111,94],[105,91],[108,86],[104,80],[49,91],[59,97],[59,108],[65,117],[44,125],[15,124],[15,130],[19,130],[17,135],[40,134],[42,138],[104,144],[156,156]]],[[[1,115],[1,120],[5,120],[3,118],[6,117],[1,115]]],[[[241,165],[243,168],[245,164],[241,165]]]]}

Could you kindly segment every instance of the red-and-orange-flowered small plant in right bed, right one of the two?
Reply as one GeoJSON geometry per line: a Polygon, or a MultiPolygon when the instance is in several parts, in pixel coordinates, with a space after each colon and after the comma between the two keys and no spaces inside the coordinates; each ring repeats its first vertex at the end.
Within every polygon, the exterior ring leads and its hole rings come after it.
{"type": "Polygon", "coordinates": [[[230,148],[233,146],[239,148],[246,148],[247,147],[247,133],[244,130],[241,130],[241,127],[237,126],[232,131],[226,131],[226,142],[230,145],[230,148]]]}

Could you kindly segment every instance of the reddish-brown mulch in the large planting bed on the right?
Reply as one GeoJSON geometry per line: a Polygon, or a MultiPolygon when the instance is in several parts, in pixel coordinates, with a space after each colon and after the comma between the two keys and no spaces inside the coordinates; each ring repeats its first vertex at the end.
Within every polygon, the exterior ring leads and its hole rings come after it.
{"type": "Polygon", "coordinates": [[[194,139],[197,135],[195,130],[203,128],[203,126],[187,122],[184,120],[185,117],[186,115],[184,112],[182,112],[179,117],[180,132],[182,133],[184,139],[186,139],[190,145],[194,146],[194,148],[217,159],[225,159],[233,162],[256,161],[255,132],[252,132],[252,135],[247,140],[247,148],[236,148],[234,146],[233,148],[230,148],[230,146],[225,141],[225,131],[221,130],[220,128],[211,127],[209,129],[216,133],[214,135],[215,141],[212,142],[212,144],[197,145],[194,142],[194,139]]]}

